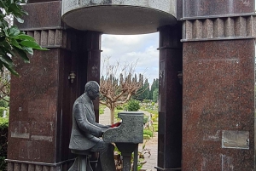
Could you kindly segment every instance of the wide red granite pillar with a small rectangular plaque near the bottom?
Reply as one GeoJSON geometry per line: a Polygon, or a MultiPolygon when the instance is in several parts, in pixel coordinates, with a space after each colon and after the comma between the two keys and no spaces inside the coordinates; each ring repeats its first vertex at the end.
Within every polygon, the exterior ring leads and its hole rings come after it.
{"type": "Polygon", "coordinates": [[[183,170],[254,170],[253,0],[183,3],[183,170]]]}

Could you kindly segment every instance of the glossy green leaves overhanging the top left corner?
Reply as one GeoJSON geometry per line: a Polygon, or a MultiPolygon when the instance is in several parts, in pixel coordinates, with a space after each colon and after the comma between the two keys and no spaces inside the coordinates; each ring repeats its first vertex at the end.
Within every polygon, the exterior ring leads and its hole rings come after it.
{"type": "Polygon", "coordinates": [[[20,31],[17,26],[12,26],[12,19],[23,23],[20,17],[26,11],[21,9],[20,3],[26,3],[24,0],[0,0],[0,70],[6,67],[12,74],[18,76],[15,71],[13,58],[20,58],[29,63],[28,54],[33,54],[33,49],[48,50],[42,48],[33,37],[20,31]]]}

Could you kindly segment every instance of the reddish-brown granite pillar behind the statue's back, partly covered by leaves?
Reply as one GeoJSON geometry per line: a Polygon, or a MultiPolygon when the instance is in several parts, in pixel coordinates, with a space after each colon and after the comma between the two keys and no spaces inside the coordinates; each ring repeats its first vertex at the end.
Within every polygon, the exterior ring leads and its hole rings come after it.
{"type": "Polygon", "coordinates": [[[73,102],[84,93],[88,61],[97,62],[88,50],[93,34],[65,27],[61,1],[32,2],[23,6],[30,15],[18,26],[49,51],[35,50],[30,64],[15,60],[20,77],[11,79],[8,169],[66,171],[74,157],[68,149],[73,102]]]}

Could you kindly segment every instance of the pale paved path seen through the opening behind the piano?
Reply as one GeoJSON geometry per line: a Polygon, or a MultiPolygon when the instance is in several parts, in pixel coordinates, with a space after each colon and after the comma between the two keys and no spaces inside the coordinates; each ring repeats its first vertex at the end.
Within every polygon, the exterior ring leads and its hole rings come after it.
{"type": "MultiPolygon", "coordinates": [[[[149,115],[145,112],[146,115],[149,115]]],[[[99,123],[102,123],[103,125],[109,125],[110,124],[110,110],[108,108],[105,109],[104,114],[101,114],[99,117],[99,123]]],[[[147,171],[155,171],[154,168],[157,163],[157,140],[158,134],[157,132],[154,133],[153,138],[148,140],[145,145],[145,149],[148,149],[151,153],[151,156],[148,157],[148,154],[145,155],[145,164],[143,165],[143,168],[147,169],[147,171]]],[[[144,140],[145,142],[145,140],[144,140]]],[[[142,151],[142,145],[139,145],[139,151],[142,151]]]]}

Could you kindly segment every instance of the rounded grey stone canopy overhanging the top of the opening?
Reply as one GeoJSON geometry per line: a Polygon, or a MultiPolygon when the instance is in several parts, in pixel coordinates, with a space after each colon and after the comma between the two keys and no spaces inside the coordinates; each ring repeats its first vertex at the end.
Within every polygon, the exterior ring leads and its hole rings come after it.
{"type": "Polygon", "coordinates": [[[145,34],[176,23],[176,0],[62,0],[62,20],[82,31],[145,34]]]}

